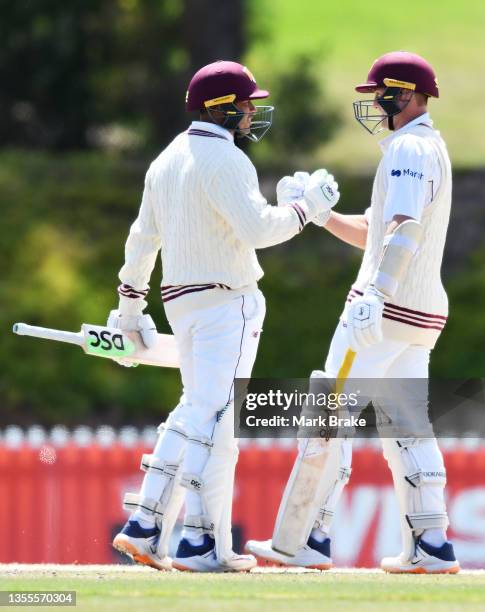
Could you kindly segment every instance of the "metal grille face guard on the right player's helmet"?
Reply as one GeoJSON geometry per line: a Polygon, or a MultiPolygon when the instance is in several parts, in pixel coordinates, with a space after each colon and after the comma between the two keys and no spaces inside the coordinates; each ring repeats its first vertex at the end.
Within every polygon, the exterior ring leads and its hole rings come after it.
{"type": "Polygon", "coordinates": [[[409,98],[404,106],[400,107],[397,101],[403,91],[409,91],[409,89],[386,87],[382,95],[376,96],[373,100],[357,100],[353,103],[355,118],[370,134],[378,134],[386,127],[393,130],[393,117],[402,112],[411,99],[409,98]],[[376,108],[376,103],[380,109],[376,108]]]}

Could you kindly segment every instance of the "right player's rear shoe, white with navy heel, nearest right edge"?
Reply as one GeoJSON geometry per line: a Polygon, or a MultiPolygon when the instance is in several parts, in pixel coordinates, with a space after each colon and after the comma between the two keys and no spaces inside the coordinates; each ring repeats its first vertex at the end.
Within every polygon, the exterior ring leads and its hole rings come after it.
{"type": "Polygon", "coordinates": [[[437,547],[418,539],[411,560],[403,559],[402,553],[398,557],[385,557],[381,568],[389,574],[457,574],[460,564],[451,542],[437,547]]]}

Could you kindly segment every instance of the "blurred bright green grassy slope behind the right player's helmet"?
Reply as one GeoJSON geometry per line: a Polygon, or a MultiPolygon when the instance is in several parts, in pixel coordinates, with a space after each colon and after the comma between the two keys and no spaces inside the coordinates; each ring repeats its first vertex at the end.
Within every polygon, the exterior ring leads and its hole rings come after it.
{"type": "MultiPolygon", "coordinates": [[[[252,27],[260,33],[247,61],[257,78],[284,66],[299,52],[322,58],[322,80],[344,111],[344,126],[322,148],[320,163],[356,170],[379,156],[376,138],[353,118],[353,86],[365,80],[373,60],[397,49],[414,51],[434,65],[441,97],[430,110],[445,136],[453,161],[485,162],[485,2],[407,0],[383,4],[361,0],[252,0],[252,27]]],[[[291,88],[291,83],[287,84],[291,88]]],[[[305,100],[301,100],[302,121],[305,100]]],[[[275,126],[277,129],[277,114],[275,126]]]]}

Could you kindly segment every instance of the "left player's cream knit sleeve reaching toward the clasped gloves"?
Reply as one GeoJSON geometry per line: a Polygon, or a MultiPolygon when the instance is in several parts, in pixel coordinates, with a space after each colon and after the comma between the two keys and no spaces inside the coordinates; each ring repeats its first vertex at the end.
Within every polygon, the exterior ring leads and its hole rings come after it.
{"type": "Polygon", "coordinates": [[[219,164],[208,196],[237,238],[255,249],[289,240],[307,222],[304,202],[288,206],[267,203],[259,190],[256,169],[241,151],[219,164]]]}

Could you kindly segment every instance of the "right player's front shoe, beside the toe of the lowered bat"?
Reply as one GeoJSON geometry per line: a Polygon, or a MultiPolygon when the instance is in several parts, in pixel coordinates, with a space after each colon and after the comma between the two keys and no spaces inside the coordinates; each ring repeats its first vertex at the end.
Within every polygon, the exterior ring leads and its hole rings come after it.
{"type": "Polygon", "coordinates": [[[305,546],[300,548],[294,557],[287,557],[274,551],[271,548],[271,540],[249,540],[246,544],[246,550],[253,553],[259,559],[275,563],[276,565],[319,570],[327,570],[332,567],[330,538],[326,538],[323,542],[318,542],[310,536],[305,546]]]}

